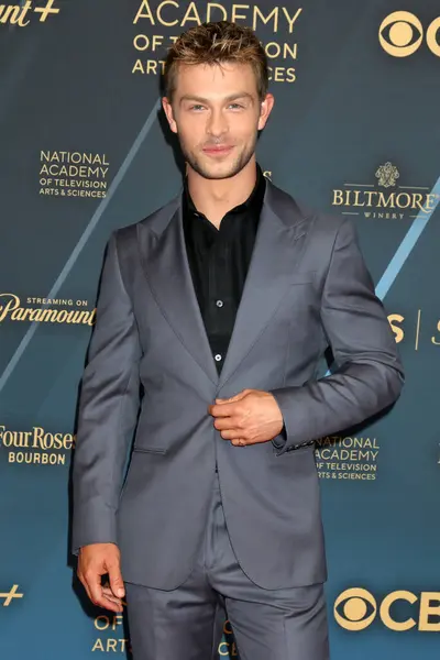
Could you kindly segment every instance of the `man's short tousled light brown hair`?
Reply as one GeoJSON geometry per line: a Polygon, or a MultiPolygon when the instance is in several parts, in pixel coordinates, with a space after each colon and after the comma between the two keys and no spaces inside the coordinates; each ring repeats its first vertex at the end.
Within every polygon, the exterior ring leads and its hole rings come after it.
{"type": "Polygon", "coordinates": [[[226,62],[250,64],[255,73],[258,98],[265,98],[268,86],[265,51],[251,28],[229,21],[202,23],[180,34],[165,59],[165,96],[169,101],[173,100],[179,64],[213,65],[226,62]]]}

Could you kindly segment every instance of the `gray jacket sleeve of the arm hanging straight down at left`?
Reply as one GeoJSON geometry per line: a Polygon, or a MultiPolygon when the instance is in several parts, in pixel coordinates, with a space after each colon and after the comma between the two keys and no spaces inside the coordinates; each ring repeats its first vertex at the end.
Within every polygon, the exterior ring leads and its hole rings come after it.
{"type": "Polygon", "coordinates": [[[74,553],[89,543],[117,542],[116,513],[139,410],[140,356],[136,322],[113,233],[79,398],[73,471],[74,553]]]}

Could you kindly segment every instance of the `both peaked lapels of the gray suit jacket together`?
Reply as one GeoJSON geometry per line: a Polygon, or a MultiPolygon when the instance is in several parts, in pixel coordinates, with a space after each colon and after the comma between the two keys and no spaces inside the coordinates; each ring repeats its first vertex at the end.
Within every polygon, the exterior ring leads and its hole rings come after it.
{"type": "Polygon", "coordinates": [[[305,248],[305,220],[292,198],[267,182],[255,246],[220,377],[193,285],[180,197],[158,211],[153,221],[140,223],[142,263],[153,296],[175,334],[218,391],[240,366],[282,302],[305,248]]]}

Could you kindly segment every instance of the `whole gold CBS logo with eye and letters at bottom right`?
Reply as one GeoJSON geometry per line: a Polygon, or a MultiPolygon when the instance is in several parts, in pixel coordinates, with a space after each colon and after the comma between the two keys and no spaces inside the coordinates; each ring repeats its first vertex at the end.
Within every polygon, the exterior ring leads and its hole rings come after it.
{"type": "Polygon", "coordinates": [[[333,614],[341,628],[351,631],[365,630],[380,618],[396,632],[440,632],[440,592],[394,591],[378,603],[366,588],[348,588],[337,597],[333,614]]]}

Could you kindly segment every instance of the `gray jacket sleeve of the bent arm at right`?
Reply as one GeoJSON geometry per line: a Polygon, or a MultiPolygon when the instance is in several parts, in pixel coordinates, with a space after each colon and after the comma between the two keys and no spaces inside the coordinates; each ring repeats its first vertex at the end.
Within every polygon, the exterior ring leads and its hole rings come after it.
{"type": "Polygon", "coordinates": [[[320,315],[338,369],[272,391],[286,429],[279,454],[363,421],[393,404],[403,386],[394,334],[349,220],[334,240],[320,315]]]}

